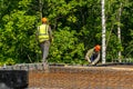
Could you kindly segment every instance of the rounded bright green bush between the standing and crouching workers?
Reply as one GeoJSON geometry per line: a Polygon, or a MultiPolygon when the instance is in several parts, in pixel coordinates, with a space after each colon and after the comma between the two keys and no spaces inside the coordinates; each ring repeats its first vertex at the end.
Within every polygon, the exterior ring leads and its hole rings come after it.
{"type": "Polygon", "coordinates": [[[50,61],[60,63],[74,63],[83,60],[84,44],[79,43],[75,31],[69,27],[54,32],[54,42],[51,46],[50,61]],[[63,43],[63,44],[62,44],[63,43]]]}

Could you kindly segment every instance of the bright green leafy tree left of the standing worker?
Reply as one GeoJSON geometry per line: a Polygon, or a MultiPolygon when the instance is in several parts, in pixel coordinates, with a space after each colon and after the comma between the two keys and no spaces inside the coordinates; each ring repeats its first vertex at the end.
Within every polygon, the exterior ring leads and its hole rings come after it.
{"type": "MultiPolygon", "coordinates": [[[[9,1],[9,7],[12,3],[9,1]]],[[[1,18],[0,59],[1,61],[12,59],[16,62],[27,62],[28,59],[31,60],[31,56],[34,56],[35,50],[33,49],[35,47],[33,34],[35,17],[27,13],[29,0],[13,4],[18,4],[18,7],[11,8],[11,11],[1,18]]]]}

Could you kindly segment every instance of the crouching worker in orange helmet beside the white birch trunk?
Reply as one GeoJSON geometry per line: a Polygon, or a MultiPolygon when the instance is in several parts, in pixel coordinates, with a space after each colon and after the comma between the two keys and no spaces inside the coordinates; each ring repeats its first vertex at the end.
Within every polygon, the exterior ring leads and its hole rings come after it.
{"type": "Polygon", "coordinates": [[[100,44],[96,44],[94,48],[88,50],[85,55],[85,60],[88,60],[89,63],[91,63],[92,66],[96,65],[100,60],[100,44]]]}

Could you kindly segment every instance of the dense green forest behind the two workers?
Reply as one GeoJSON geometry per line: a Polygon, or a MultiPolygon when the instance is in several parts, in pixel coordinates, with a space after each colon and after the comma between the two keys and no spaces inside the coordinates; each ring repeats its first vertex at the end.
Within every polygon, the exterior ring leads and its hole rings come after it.
{"type": "MultiPolygon", "coordinates": [[[[54,38],[49,62],[88,63],[85,52],[102,43],[101,0],[0,0],[0,65],[40,62],[35,31],[42,17],[54,38]]],[[[132,61],[133,1],[105,0],[105,20],[106,61],[116,61],[119,52],[132,61]]]]}

